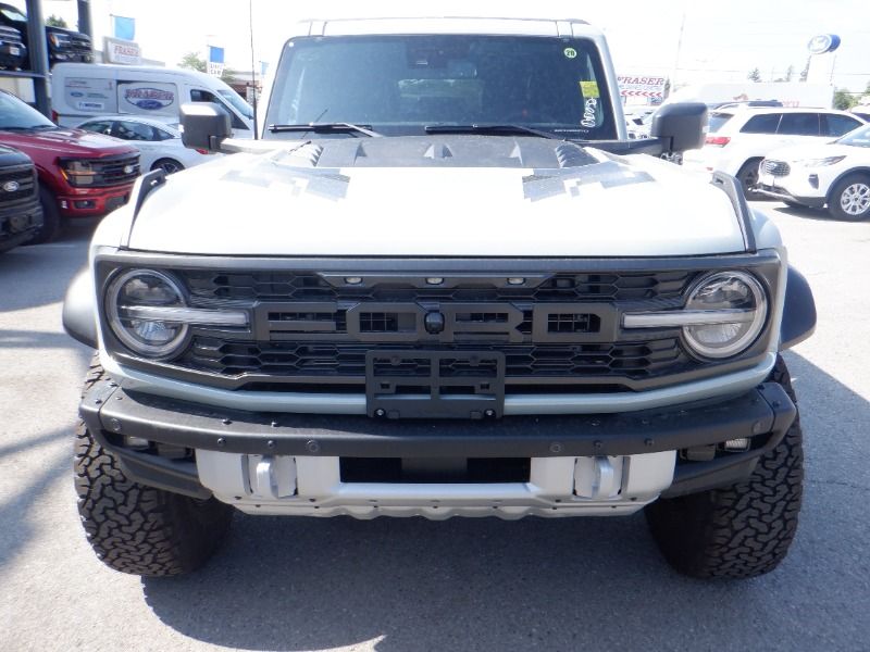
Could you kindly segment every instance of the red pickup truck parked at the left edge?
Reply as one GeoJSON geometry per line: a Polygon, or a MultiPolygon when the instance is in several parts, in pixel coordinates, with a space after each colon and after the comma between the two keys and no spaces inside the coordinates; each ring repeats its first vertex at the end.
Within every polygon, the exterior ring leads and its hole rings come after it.
{"type": "Polygon", "coordinates": [[[61,128],[15,96],[0,91],[0,145],[33,159],[44,224],[32,243],[51,240],[67,217],[109,213],[129,199],[139,151],[114,138],[61,128]]]}

